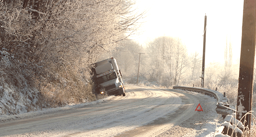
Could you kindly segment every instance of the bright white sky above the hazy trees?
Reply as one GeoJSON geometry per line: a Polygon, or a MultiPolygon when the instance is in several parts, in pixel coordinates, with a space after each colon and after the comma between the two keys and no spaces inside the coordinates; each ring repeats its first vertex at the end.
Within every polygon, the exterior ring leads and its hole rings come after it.
{"type": "Polygon", "coordinates": [[[148,10],[141,45],[158,36],[179,37],[190,53],[203,52],[204,16],[207,15],[205,64],[224,62],[226,37],[231,38],[233,63],[241,50],[243,0],[135,0],[140,11],[148,10]]]}

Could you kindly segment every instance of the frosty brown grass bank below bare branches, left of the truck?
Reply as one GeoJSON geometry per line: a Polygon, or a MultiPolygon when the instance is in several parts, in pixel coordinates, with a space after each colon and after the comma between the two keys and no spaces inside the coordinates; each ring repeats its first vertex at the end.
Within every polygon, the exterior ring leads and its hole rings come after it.
{"type": "MultiPolygon", "coordinates": [[[[22,45],[22,43],[20,43],[22,45]]],[[[25,49],[19,48],[19,53],[25,49]]],[[[0,115],[96,101],[93,83],[71,67],[44,68],[7,48],[0,49],[0,115]],[[12,71],[10,71],[12,70],[12,71]]],[[[83,74],[89,78],[89,74],[83,74]]]]}

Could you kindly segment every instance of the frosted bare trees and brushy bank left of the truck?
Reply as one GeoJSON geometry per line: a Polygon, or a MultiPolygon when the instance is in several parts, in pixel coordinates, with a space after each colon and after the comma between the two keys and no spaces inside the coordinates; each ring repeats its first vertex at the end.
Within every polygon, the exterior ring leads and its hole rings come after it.
{"type": "Polygon", "coordinates": [[[0,0],[0,114],[95,101],[90,65],[136,33],[130,0],[0,0]]]}

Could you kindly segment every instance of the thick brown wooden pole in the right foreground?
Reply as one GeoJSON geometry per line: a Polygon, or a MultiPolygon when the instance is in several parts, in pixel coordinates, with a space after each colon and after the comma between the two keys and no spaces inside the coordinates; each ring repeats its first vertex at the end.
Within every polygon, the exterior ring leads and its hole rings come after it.
{"type": "Polygon", "coordinates": [[[256,0],[244,0],[243,26],[241,40],[241,55],[239,83],[237,92],[236,119],[241,120],[245,127],[251,129],[251,114],[253,100],[253,70],[255,57],[255,12],[256,0]]]}

